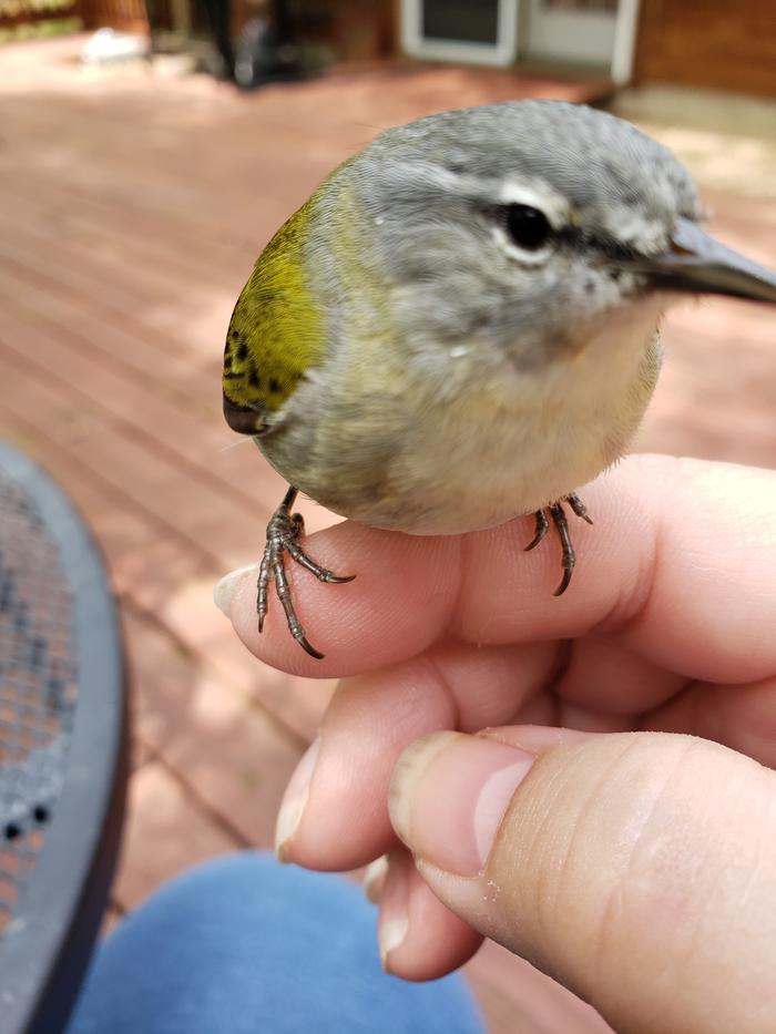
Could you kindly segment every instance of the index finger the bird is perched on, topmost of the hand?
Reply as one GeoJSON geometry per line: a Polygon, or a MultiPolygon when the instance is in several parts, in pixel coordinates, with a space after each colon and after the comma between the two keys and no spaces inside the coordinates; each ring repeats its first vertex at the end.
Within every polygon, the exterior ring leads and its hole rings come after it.
{"type": "Polygon", "coordinates": [[[595,524],[575,521],[569,591],[552,595],[559,547],[531,553],[532,522],[463,536],[419,538],[346,522],[305,549],[346,585],[288,562],[313,661],[270,598],[256,627],[255,572],[229,602],[257,657],[307,676],[375,670],[457,636],[469,643],[565,639],[617,632],[631,649],[688,678],[749,682],[776,669],[776,474],[668,457],[630,457],[581,490],[595,524]],[[273,605],[274,604],[274,605],[273,605]]]}

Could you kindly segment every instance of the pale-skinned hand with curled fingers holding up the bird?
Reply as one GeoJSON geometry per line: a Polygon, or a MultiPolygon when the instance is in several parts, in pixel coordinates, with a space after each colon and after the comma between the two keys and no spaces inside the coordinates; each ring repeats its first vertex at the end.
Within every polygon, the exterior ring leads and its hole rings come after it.
{"type": "MultiPolygon", "coordinates": [[[[372,891],[399,976],[490,936],[617,1032],[773,1031],[776,473],[633,457],[584,500],[562,598],[554,551],[522,552],[530,519],[310,536],[358,574],[288,565],[323,662],[277,605],[259,637],[255,573],[233,582],[256,656],[343,677],[279,852],[333,870],[389,853],[372,891]]],[[[519,1030],[605,1030],[553,986],[527,971],[519,1030]]]]}

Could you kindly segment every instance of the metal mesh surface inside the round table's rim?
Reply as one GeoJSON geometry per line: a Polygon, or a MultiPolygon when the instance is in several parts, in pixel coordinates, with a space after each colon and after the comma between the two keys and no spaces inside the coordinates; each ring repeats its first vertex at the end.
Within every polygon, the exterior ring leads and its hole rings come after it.
{"type": "Polygon", "coordinates": [[[34,501],[0,481],[0,934],[64,780],[78,696],[71,593],[34,501]]]}

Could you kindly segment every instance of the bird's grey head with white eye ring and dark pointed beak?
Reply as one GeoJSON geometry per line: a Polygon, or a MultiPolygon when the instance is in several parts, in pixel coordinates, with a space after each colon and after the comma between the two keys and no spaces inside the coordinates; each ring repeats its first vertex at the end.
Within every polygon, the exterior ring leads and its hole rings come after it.
{"type": "Polygon", "coordinates": [[[348,262],[420,347],[492,341],[537,367],[613,309],[657,311],[672,293],[776,301],[772,274],[702,229],[684,166],[589,108],[523,101],[388,130],[320,205],[347,213],[348,262]]]}

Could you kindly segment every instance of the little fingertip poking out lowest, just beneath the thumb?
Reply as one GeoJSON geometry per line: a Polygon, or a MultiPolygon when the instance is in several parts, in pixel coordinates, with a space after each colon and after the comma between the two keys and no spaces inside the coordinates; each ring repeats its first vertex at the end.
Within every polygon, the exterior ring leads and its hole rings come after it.
{"type": "Polygon", "coordinates": [[[431,892],[410,854],[390,856],[380,894],[378,940],[382,966],[405,980],[431,980],[463,965],[482,934],[459,919],[431,892]]]}

